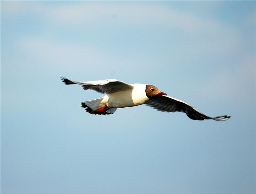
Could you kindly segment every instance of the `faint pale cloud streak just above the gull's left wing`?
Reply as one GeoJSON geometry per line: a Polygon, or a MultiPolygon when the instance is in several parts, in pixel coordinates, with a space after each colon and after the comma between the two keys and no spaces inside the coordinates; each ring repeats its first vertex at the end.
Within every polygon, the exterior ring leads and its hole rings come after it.
{"type": "Polygon", "coordinates": [[[29,68],[57,70],[59,73],[74,73],[76,76],[81,74],[81,77],[92,75],[92,79],[131,78],[130,73],[136,75],[143,72],[147,61],[143,56],[130,58],[123,54],[40,38],[22,39],[17,43],[17,47],[25,57],[29,57],[29,68]],[[137,69],[136,72],[133,72],[134,68],[137,69]]]}

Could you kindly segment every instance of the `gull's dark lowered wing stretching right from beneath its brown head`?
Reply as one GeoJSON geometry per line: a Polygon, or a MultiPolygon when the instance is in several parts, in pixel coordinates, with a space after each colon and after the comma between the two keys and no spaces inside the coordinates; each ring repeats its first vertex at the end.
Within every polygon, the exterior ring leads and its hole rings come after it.
{"type": "Polygon", "coordinates": [[[230,118],[230,116],[224,115],[220,117],[209,117],[204,113],[197,111],[194,107],[189,104],[170,96],[157,95],[152,99],[148,100],[146,105],[157,109],[158,111],[166,112],[185,112],[190,119],[193,120],[204,120],[213,119],[216,121],[225,121],[230,118]]]}

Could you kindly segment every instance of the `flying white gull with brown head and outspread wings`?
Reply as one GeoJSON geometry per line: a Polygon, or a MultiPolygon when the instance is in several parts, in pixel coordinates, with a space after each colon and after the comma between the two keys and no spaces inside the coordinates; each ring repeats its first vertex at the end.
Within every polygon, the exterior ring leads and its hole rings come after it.
{"type": "Polygon", "coordinates": [[[146,104],[158,111],[184,112],[193,120],[213,119],[226,121],[230,118],[227,115],[209,117],[182,100],[167,96],[166,93],[161,92],[151,84],[128,84],[117,79],[75,82],[65,77],[60,78],[66,85],[78,84],[82,85],[84,90],[95,90],[101,94],[106,94],[102,98],[81,103],[81,106],[86,108],[86,112],[90,114],[109,115],[113,114],[118,108],[146,104]]]}

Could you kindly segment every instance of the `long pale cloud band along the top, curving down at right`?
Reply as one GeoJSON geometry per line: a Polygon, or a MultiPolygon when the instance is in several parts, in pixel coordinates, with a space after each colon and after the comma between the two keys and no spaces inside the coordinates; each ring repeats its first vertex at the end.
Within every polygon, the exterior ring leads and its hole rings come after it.
{"type": "MultiPolygon", "coordinates": [[[[166,7],[157,2],[98,2],[56,3],[44,1],[6,1],[2,3],[3,16],[31,14],[53,25],[79,28],[87,24],[129,24],[184,32],[188,40],[183,49],[191,54],[232,54],[238,49],[239,35],[227,24],[212,18],[166,7]]],[[[184,43],[183,43],[184,44],[184,43]]]]}

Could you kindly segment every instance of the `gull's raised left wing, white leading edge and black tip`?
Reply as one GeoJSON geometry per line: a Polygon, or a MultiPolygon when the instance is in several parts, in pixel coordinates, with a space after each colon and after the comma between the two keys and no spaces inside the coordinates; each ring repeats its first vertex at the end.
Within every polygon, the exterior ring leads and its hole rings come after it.
{"type": "Polygon", "coordinates": [[[65,84],[79,84],[82,85],[84,90],[95,90],[101,94],[110,94],[118,91],[130,90],[132,85],[116,79],[88,81],[88,82],[74,82],[65,77],[60,77],[61,81],[65,84]]]}

